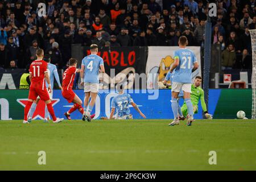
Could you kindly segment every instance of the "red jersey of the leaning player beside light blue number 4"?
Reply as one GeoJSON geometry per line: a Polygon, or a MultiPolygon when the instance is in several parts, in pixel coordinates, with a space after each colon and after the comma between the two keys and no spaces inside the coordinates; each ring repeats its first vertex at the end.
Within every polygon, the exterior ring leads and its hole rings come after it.
{"type": "Polygon", "coordinates": [[[76,76],[76,67],[68,67],[63,73],[62,88],[63,90],[72,90],[73,82],[76,76]]]}

